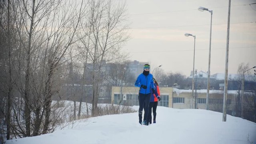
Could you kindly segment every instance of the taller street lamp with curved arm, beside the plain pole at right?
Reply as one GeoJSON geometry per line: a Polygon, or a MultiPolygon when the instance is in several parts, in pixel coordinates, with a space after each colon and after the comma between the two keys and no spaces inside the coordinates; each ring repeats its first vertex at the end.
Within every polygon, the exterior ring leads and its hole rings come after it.
{"type": "Polygon", "coordinates": [[[206,94],[206,110],[209,109],[208,107],[208,100],[209,100],[209,89],[210,89],[210,63],[211,63],[211,40],[212,40],[212,10],[208,10],[208,8],[199,7],[199,11],[203,12],[207,10],[211,13],[211,26],[210,26],[210,45],[209,45],[209,60],[208,60],[208,80],[207,80],[207,94],[206,94]]]}

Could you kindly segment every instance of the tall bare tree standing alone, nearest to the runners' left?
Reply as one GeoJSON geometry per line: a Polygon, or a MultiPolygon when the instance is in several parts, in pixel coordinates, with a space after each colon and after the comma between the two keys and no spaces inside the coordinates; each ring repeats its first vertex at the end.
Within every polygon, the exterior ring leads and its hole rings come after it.
{"type": "Polygon", "coordinates": [[[102,68],[106,62],[116,59],[120,46],[127,40],[125,20],[125,4],[112,0],[90,0],[88,22],[83,26],[87,33],[81,36],[90,41],[83,41],[88,48],[88,62],[92,72],[92,116],[97,115],[97,104],[102,85],[102,68]]]}

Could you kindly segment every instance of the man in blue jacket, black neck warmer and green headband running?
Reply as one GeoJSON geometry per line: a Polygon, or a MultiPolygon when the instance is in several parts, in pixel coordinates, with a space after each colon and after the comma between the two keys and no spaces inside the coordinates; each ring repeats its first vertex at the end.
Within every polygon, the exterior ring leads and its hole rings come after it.
{"type": "Polygon", "coordinates": [[[153,75],[149,73],[149,70],[150,70],[150,65],[145,64],[142,74],[140,74],[138,76],[138,78],[134,84],[134,86],[140,87],[139,96],[138,96],[139,105],[140,105],[139,123],[143,124],[143,125],[148,124],[147,117],[148,117],[148,111],[149,111],[148,107],[149,107],[150,96],[151,96],[150,90],[155,92],[153,75]],[[145,104],[144,118],[143,118],[143,122],[142,122],[142,110],[143,110],[144,104],[145,104]]]}

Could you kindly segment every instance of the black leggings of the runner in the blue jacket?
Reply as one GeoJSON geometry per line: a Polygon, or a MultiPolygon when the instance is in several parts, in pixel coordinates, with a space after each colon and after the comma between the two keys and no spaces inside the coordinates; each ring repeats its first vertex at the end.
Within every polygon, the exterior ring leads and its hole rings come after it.
{"type": "Polygon", "coordinates": [[[139,108],[139,122],[142,122],[143,108],[144,108],[144,118],[143,118],[143,120],[147,120],[150,96],[151,96],[151,93],[149,93],[149,94],[139,93],[139,96],[138,96],[139,105],[140,105],[140,108],[139,108]]]}

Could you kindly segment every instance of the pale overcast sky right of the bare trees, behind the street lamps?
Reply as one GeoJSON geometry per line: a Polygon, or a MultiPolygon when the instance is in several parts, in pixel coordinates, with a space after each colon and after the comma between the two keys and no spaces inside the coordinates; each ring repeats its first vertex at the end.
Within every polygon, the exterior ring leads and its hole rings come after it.
{"type": "MultiPolygon", "coordinates": [[[[210,74],[224,73],[228,22],[228,0],[127,0],[130,40],[123,47],[130,60],[162,64],[166,72],[189,76],[193,69],[208,71],[210,12],[213,11],[210,74]]],[[[256,66],[256,0],[231,0],[228,73],[238,65],[256,66]]]]}

